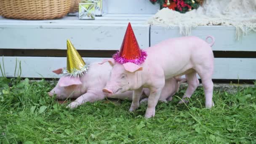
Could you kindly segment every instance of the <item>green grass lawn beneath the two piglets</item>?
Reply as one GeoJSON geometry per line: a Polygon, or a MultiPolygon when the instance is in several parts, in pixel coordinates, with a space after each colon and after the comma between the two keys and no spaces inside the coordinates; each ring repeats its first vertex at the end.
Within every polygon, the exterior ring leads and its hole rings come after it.
{"type": "MultiPolygon", "coordinates": [[[[45,80],[0,78],[0,143],[256,143],[256,88],[235,93],[214,91],[212,109],[205,109],[203,89],[190,103],[159,103],[156,115],[147,108],[128,112],[131,101],[97,101],[66,109],[48,97],[45,80]]],[[[182,89],[176,96],[181,97],[182,89]]]]}

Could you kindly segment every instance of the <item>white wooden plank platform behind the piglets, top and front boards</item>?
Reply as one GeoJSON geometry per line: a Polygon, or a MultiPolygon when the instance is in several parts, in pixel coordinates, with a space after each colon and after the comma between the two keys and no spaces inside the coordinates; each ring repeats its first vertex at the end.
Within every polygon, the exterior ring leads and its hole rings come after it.
{"type": "MultiPolygon", "coordinates": [[[[179,28],[166,29],[146,23],[151,14],[107,14],[95,21],[65,17],[58,20],[23,21],[0,18],[0,49],[66,49],[70,39],[78,50],[118,50],[128,22],[131,22],[141,48],[170,37],[180,37],[179,28]]],[[[234,27],[206,26],[192,29],[192,35],[203,39],[213,35],[214,51],[256,51],[256,34],[235,40],[234,27]]],[[[64,57],[17,57],[22,77],[59,77],[51,71],[66,66],[64,57]],[[39,67],[40,66],[40,67],[39,67]]],[[[5,71],[13,77],[16,57],[7,56],[5,71]]],[[[86,59],[86,58],[85,58],[86,59]]],[[[88,62],[102,58],[88,58],[88,62]]],[[[256,79],[256,59],[216,58],[214,79],[256,79]]]]}

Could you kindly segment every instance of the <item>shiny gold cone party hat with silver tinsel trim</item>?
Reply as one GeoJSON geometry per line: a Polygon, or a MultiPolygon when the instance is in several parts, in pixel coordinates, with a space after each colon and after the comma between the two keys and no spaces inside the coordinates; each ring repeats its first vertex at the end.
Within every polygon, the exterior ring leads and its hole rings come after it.
{"type": "Polygon", "coordinates": [[[83,61],[74,45],[67,40],[67,68],[63,69],[62,72],[72,77],[79,77],[83,75],[83,72],[87,72],[87,69],[85,61],[83,61]]]}

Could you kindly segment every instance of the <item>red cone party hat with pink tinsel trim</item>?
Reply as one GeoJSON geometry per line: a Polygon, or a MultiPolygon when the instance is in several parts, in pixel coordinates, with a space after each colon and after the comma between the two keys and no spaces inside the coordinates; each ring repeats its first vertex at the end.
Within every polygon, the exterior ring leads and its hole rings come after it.
{"type": "Polygon", "coordinates": [[[139,44],[131,27],[131,23],[129,23],[120,51],[115,53],[113,58],[120,64],[132,62],[139,65],[145,61],[146,57],[147,53],[139,48],[139,44]]]}

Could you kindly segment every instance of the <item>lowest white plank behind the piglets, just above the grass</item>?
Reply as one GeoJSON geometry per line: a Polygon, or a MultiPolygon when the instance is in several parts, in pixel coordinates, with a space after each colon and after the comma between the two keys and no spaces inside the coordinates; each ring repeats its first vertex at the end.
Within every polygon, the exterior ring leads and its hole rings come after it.
{"type": "MultiPolygon", "coordinates": [[[[66,67],[65,57],[17,57],[21,61],[22,77],[59,77],[51,71],[66,67]]],[[[5,71],[13,77],[16,57],[4,57],[5,71]]],[[[84,58],[88,63],[102,58],[84,58]]],[[[256,80],[256,59],[215,58],[213,79],[256,80]]]]}

